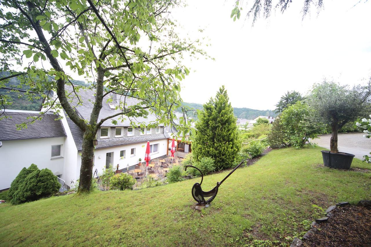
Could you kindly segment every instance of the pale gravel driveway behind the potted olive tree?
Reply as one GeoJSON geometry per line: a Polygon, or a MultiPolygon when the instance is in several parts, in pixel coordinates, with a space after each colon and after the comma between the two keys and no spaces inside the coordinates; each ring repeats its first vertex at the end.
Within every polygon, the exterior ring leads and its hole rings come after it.
{"type": "MultiPolygon", "coordinates": [[[[364,138],[364,133],[344,133],[338,134],[339,152],[354,154],[355,158],[362,159],[363,155],[371,152],[371,139],[364,138]]],[[[323,148],[330,149],[331,135],[320,135],[312,142],[323,148]]]]}

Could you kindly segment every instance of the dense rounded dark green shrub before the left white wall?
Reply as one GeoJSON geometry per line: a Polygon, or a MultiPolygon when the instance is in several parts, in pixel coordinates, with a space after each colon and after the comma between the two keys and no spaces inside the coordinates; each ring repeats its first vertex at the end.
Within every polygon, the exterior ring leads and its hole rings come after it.
{"type": "MultiPolygon", "coordinates": [[[[17,178],[18,180],[15,183],[17,190],[14,191],[13,188],[12,196],[9,198],[14,205],[49,197],[58,192],[60,188],[57,176],[52,171],[47,168],[40,170],[34,164],[28,169],[23,168],[17,178]],[[28,175],[24,177],[27,173],[28,175]]],[[[10,188],[12,188],[12,185],[10,185],[10,188]]]]}

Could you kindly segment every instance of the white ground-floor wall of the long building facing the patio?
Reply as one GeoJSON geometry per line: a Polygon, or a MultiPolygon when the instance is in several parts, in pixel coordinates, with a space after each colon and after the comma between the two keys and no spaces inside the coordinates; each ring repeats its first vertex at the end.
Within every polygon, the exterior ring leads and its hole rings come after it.
{"type": "MultiPolygon", "coordinates": [[[[161,139],[157,141],[150,141],[150,145],[152,144],[159,144],[158,145],[158,152],[151,154],[151,159],[158,158],[160,156],[166,155],[167,149],[167,139],[161,139]]],[[[106,153],[114,152],[114,158],[112,162],[112,166],[116,168],[116,165],[119,164],[119,169],[123,169],[129,166],[138,164],[138,159],[142,158],[142,162],[144,162],[144,154],[145,149],[147,147],[147,142],[135,143],[135,144],[128,144],[122,146],[115,146],[110,148],[101,148],[96,149],[94,151],[94,167],[93,172],[95,169],[98,169],[98,172],[101,173],[102,170],[106,167],[106,153]],[[135,156],[131,157],[130,151],[131,148],[136,148],[135,156]],[[126,158],[120,159],[120,151],[126,150],[126,158]]],[[[81,166],[81,159],[79,161],[79,165],[81,166]]],[[[78,165],[78,166],[79,166],[78,165]]]]}

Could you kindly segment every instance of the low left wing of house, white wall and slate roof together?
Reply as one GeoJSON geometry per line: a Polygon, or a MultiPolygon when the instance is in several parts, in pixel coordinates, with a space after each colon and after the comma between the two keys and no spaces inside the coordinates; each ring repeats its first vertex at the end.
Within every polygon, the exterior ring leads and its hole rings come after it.
{"type": "MultiPolygon", "coordinates": [[[[47,112],[42,120],[17,131],[16,124],[40,112],[5,110],[0,121],[0,190],[10,187],[23,167],[36,164],[39,169],[49,168],[62,178],[65,174],[66,132],[61,120],[53,112],[47,112]]],[[[28,120],[29,121],[29,120],[28,120]]]]}

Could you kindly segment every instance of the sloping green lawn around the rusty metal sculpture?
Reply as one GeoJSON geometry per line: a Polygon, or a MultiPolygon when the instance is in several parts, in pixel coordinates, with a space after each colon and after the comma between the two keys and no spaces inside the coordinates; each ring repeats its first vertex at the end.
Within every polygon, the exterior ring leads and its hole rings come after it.
{"type": "MultiPolygon", "coordinates": [[[[137,191],[0,204],[1,246],[225,246],[290,244],[319,210],[371,198],[371,173],[323,167],[321,148],[273,150],[237,169],[210,208],[195,211],[200,179],[137,191]]],[[[355,159],[352,167],[370,168],[355,159]]],[[[227,172],[204,178],[208,190],[227,172]]]]}

